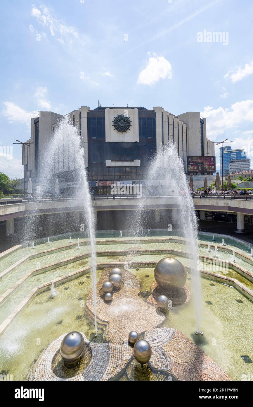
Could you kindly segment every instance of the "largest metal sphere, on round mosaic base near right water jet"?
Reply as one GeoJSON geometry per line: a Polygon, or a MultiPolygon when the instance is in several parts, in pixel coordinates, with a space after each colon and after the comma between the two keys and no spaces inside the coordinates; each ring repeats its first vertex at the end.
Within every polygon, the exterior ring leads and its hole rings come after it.
{"type": "Polygon", "coordinates": [[[157,284],[166,288],[182,288],[186,283],[184,266],[180,261],[172,257],[165,257],[158,261],[154,274],[157,284]]]}

